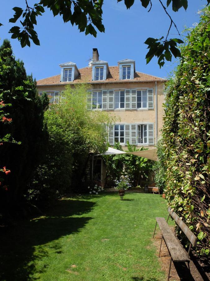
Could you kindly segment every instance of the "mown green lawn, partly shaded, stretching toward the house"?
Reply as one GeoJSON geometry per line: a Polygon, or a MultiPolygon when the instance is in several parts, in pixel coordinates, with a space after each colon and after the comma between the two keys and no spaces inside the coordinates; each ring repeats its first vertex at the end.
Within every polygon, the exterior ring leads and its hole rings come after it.
{"type": "Polygon", "coordinates": [[[164,280],[152,243],[160,195],[117,193],[60,200],[0,236],[0,280],[164,280]]]}

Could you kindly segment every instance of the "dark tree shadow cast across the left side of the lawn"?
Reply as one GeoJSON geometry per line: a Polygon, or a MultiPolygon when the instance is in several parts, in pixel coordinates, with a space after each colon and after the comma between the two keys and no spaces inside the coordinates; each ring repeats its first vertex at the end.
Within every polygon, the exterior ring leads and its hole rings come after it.
{"type": "MultiPolygon", "coordinates": [[[[71,216],[87,214],[95,205],[85,200],[63,199],[45,216],[4,229],[0,234],[0,280],[35,280],[32,275],[37,273],[36,262],[48,257],[52,249],[55,254],[62,253],[57,239],[79,232],[91,219],[71,216]],[[44,246],[48,242],[50,245],[44,246]]],[[[38,273],[48,268],[47,262],[46,259],[38,273]]]]}

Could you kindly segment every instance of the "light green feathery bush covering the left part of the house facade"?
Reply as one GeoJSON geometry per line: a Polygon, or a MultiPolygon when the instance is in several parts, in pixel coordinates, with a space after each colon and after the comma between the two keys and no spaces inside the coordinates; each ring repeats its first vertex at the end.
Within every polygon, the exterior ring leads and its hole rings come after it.
{"type": "Polygon", "coordinates": [[[114,118],[104,111],[87,110],[87,89],[84,84],[67,86],[62,103],[50,105],[44,114],[49,146],[29,188],[35,205],[48,206],[66,192],[86,190],[82,176],[89,152],[107,150],[101,124],[110,124],[114,118]]]}

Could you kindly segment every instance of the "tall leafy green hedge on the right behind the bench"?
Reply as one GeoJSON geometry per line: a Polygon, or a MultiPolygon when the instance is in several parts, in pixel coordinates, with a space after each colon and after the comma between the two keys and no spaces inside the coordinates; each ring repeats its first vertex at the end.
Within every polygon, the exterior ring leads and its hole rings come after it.
{"type": "Polygon", "coordinates": [[[166,87],[164,125],[158,148],[160,164],[165,167],[168,204],[198,237],[197,253],[207,255],[210,249],[209,16],[206,8],[198,26],[188,35],[180,64],[166,87]]]}

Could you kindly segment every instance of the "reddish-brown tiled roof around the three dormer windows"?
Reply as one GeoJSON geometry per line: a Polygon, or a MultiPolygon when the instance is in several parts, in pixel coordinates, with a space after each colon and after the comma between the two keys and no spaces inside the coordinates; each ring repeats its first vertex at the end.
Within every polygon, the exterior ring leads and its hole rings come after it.
{"type": "Polygon", "coordinates": [[[72,82],[60,82],[60,74],[51,76],[48,78],[40,79],[37,81],[37,86],[42,85],[66,85],[66,84],[77,84],[77,83],[89,83],[89,84],[100,84],[100,83],[131,83],[131,82],[152,82],[152,81],[167,81],[164,78],[152,76],[142,72],[134,72],[133,80],[120,80],[119,79],[119,67],[109,67],[110,73],[108,74],[105,81],[92,81],[92,68],[83,67],[79,69],[80,74],[77,79],[72,82]]]}

